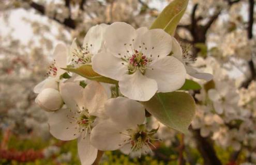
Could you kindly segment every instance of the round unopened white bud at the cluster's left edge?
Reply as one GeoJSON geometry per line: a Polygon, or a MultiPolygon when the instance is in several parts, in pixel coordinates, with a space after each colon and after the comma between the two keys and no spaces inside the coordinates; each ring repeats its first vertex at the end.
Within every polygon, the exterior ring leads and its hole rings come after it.
{"type": "Polygon", "coordinates": [[[62,96],[56,89],[43,89],[36,97],[35,102],[46,111],[55,111],[62,107],[62,96]]]}

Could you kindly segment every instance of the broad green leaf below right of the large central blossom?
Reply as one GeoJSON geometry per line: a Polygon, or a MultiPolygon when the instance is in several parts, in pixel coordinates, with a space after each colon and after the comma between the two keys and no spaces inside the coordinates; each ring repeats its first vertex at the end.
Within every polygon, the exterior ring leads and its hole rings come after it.
{"type": "Polygon", "coordinates": [[[195,102],[188,93],[156,93],[149,101],[141,103],[162,124],[188,133],[195,114],[195,102]]]}

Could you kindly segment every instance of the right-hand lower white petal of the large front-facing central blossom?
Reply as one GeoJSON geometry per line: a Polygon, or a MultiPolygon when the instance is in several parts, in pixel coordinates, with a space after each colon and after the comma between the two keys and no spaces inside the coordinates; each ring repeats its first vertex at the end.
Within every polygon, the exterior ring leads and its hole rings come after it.
{"type": "Polygon", "coordinates": [[[146,70],[148,78],[155,79],[159,92],[172,92],[182,87],[186,80],[186,70],[182,62],[167,56],[150,64],[153,70],[146,70]]]}

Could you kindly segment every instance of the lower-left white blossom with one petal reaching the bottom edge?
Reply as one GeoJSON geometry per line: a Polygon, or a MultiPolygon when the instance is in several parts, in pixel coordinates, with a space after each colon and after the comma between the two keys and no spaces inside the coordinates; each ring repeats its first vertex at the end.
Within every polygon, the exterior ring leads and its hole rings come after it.
{"type": "Polygon", "coordinates": [[[78,154],[82,164],[92,164],[98,150],[91,145],[90,135],[101,118],[104,118],[103,104],[107,94],[95,81],[85,88],[76,83],[64,83],[60,92],[66,108],[49,115],[50,133],[60,140],[78,139],[78,154]]]}

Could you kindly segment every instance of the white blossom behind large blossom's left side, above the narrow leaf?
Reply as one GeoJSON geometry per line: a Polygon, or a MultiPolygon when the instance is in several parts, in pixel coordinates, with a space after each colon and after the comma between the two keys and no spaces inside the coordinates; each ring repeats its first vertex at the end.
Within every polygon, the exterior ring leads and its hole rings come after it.
{"type": "Polygon", "coordinates": [[[69,50],[69,65],[79,67],[82,64],[91,64],[93,55],[97,54],[103,46],[103,35],[108,27],[107,24],[100,24],[91,27],[84,37],[82,47],[74,39],[69,50]]]}

